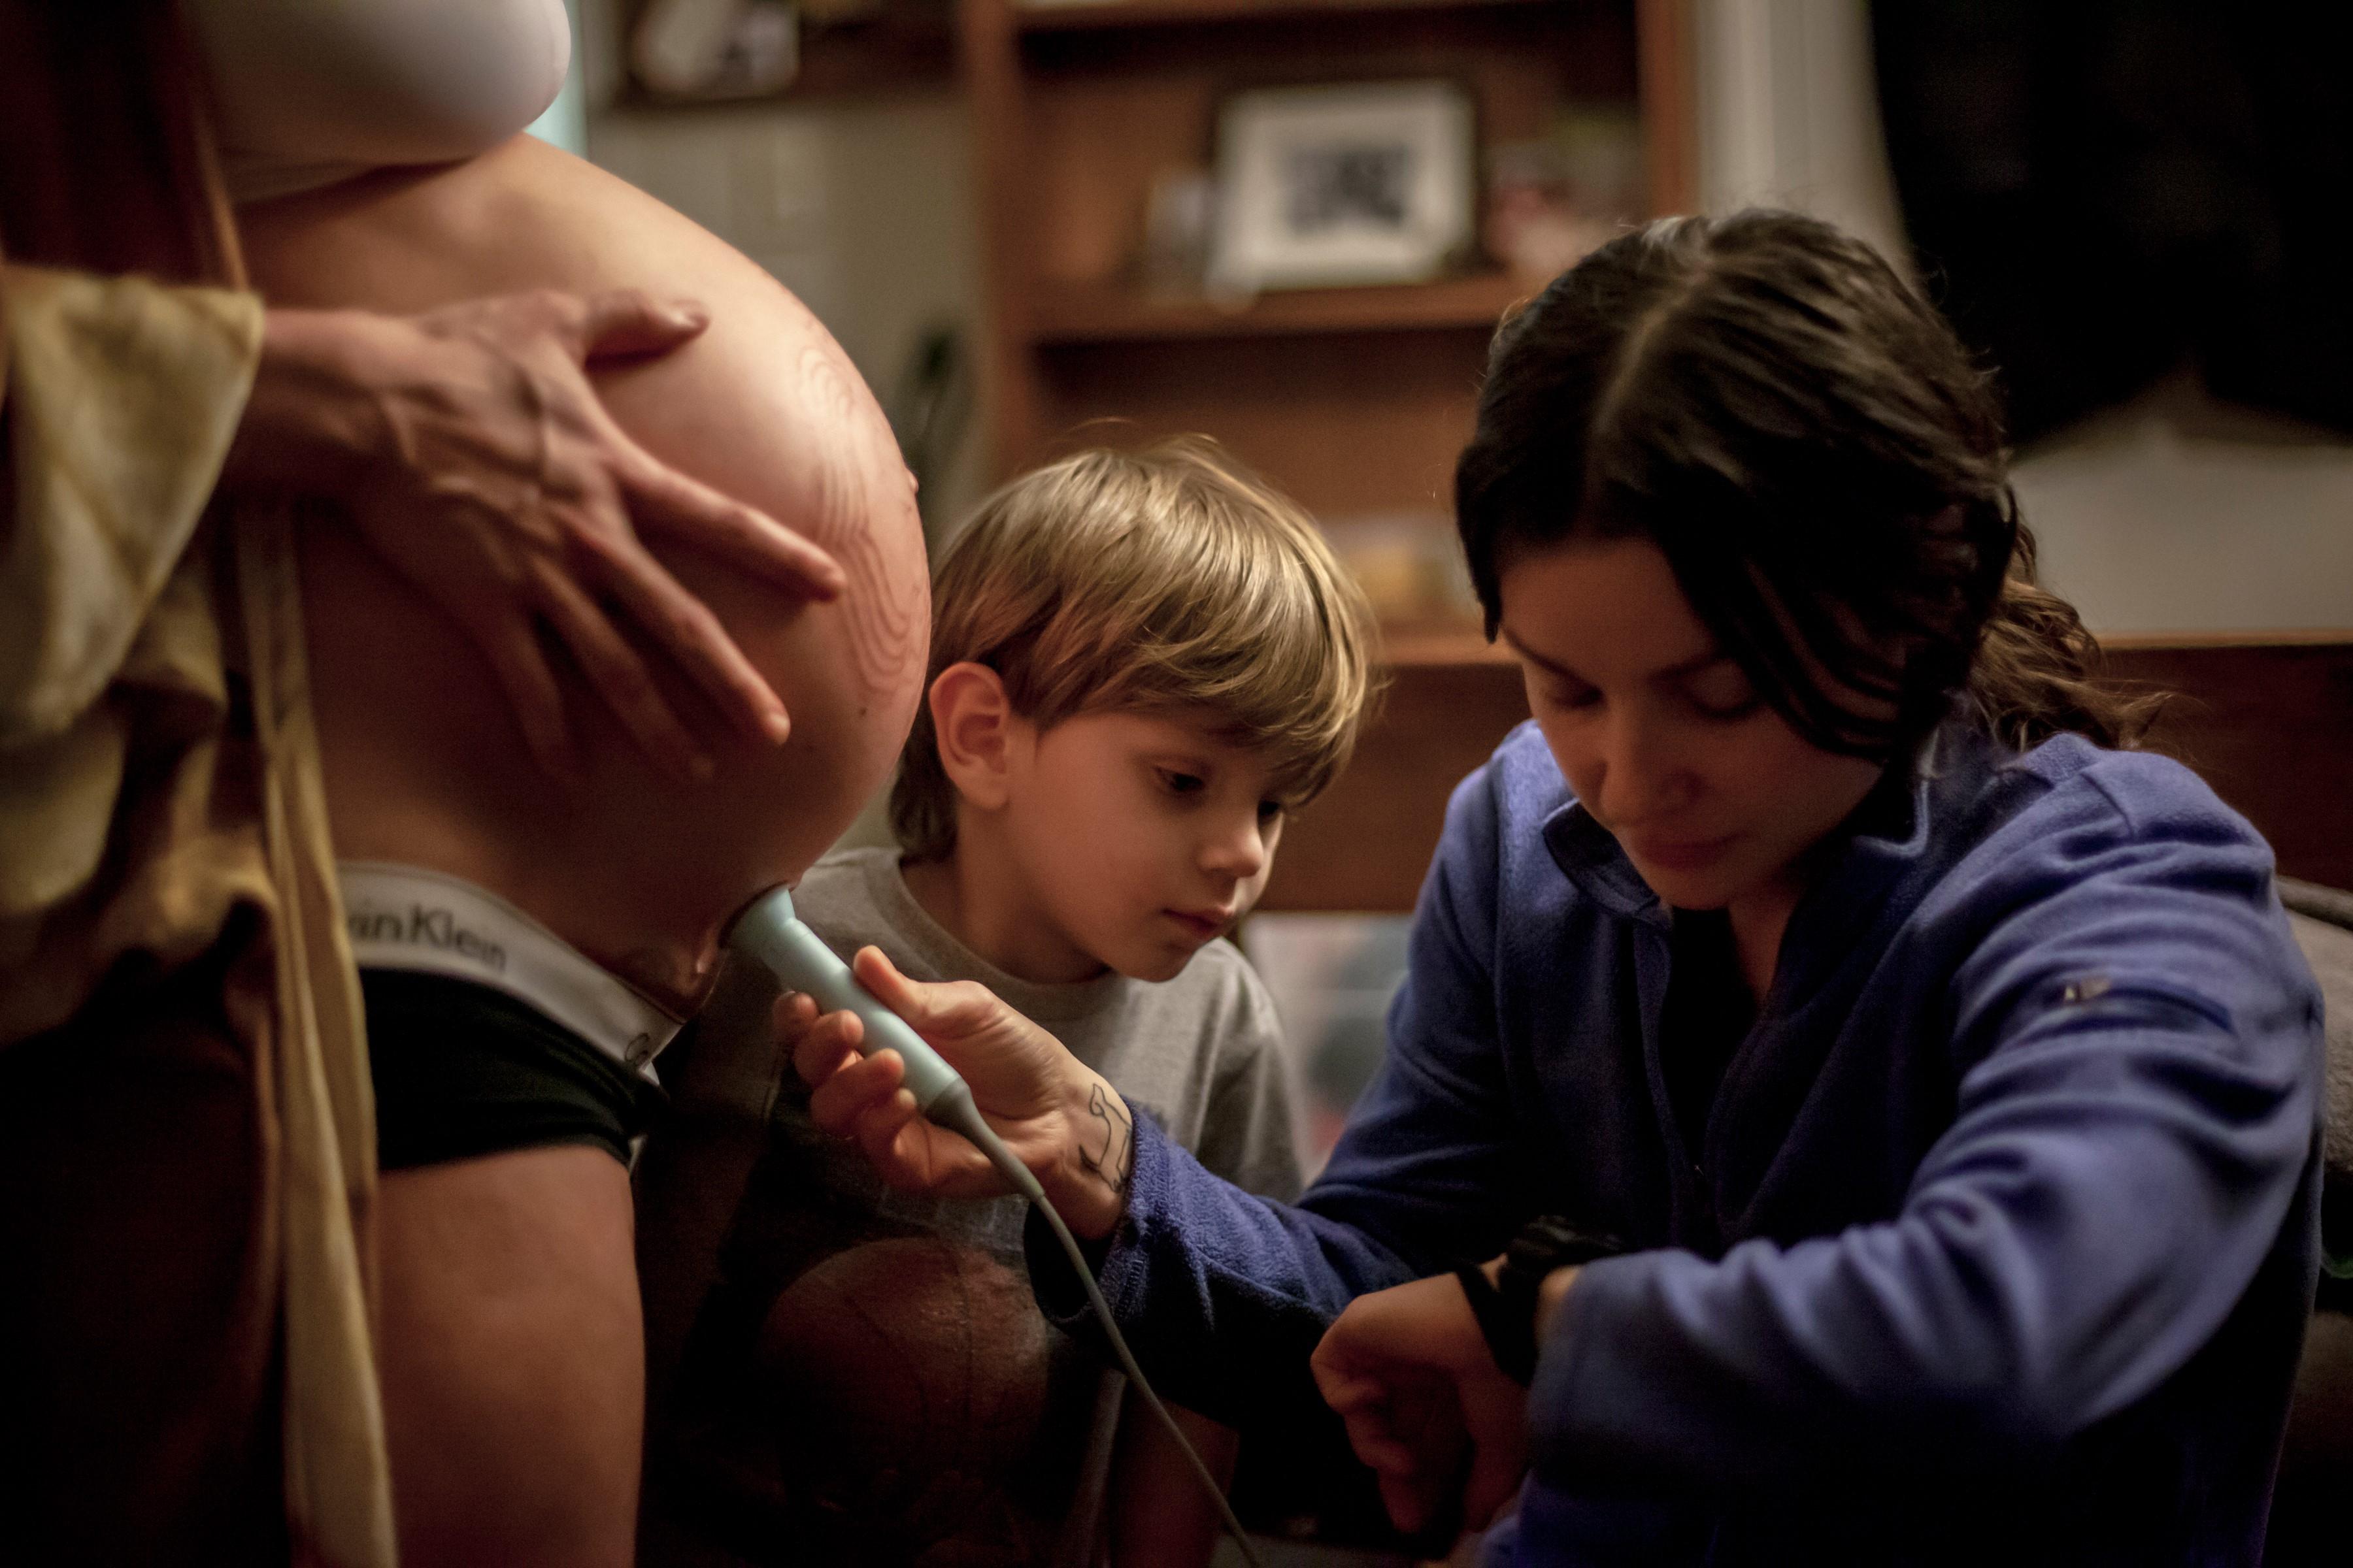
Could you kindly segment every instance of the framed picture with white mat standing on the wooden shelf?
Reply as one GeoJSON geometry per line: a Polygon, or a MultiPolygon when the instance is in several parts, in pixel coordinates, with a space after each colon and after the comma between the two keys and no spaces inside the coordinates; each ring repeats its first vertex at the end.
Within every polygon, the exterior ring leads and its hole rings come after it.
{"type": "Polygon", "coordinates": [[[1449,80],[1259,87],[1217,115],[1209,289],[1424,282],[1473,240],[1478,134],[1449,80]]]}

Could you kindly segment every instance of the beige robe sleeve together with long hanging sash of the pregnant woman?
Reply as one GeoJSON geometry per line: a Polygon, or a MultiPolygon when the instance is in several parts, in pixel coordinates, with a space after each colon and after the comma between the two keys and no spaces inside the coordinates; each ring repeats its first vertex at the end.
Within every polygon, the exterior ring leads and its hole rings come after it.
{"type": "Polygon", "coordinates": [[[275,1030],[256,1060],[278,1131],[264,1255],[285,1321],[287,1523],[301,1563],[393,1568],[367,1307],[374,1103],[294,538],[285,508],[207,522],[261,301],[9,266],[0,306],[16,482],[0,541],[0,1048],[80,1011],[125,954],[169,971],[235,907],[268,917],[275,1030]]]}

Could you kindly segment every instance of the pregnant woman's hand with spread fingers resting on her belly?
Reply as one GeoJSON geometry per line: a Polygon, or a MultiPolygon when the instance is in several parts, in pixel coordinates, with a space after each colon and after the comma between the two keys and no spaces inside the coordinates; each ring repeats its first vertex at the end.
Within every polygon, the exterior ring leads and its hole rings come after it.
{"type": "Polygon", "coordinates": [[[635,289],[534,292],[424,315],[271,310],[224,484],[322,494],[496,670],[541,766],[572,771],[551,635],[666,769],[708,771],[640,632],[748,733],[781,743],[784,703],[704,604],[638,541],[704,548],[831,599],[831,555],[668,468],[605,411],[598,360],[664,355],[706,324],[635,289]]]}

